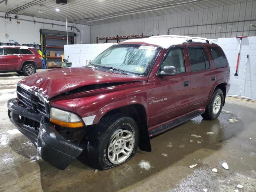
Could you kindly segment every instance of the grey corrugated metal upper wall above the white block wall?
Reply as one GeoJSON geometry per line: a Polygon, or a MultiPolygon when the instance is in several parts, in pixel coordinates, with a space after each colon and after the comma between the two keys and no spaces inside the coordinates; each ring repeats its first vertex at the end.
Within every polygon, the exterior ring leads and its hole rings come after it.
{"type": "MultiPolygon", "coordinates": [[[[189,35],[206,38],[256,36],[256,0],[91,26],[96,37],[115,35],[189,35]]],[[[113,42],[113,41],[110,41],[113,42]]]]}

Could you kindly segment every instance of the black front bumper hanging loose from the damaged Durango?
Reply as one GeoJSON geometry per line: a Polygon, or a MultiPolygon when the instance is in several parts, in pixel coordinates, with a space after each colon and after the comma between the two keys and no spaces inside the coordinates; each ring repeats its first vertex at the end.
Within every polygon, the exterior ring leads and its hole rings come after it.
{"type": "Polygon", "coordinates": [[[11,122],[36,146],[40,158],[52,166],[64,170],[84,150],[60,135],[48,118],[24,107],[16,98],[8,100],[7,107],[11,122]],[[31,125],[40,122],[40,126],[25,125],[25,120],[31,125]]]}

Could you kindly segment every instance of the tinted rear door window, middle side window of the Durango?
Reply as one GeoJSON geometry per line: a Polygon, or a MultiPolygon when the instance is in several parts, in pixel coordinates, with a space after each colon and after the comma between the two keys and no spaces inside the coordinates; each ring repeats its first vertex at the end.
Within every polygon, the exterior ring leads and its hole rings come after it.
{"type": "Polygon", "coordinates": [[[189,48],[188,55],[190,58],[191,71],[200,71],[206,69],[204,54],[200,48],[189,48]]]}

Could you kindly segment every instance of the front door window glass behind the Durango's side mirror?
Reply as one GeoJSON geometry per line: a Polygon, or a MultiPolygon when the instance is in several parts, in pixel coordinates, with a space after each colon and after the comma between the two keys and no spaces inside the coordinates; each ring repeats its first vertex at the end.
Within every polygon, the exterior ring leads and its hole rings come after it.
{"type": "Polygon", "coordinates": [[[170,50],[160,68],[163,70],[164,66],[174,66],[177,68],[178,73],[185,72],[184,54],[182,48],[170,50]]]}

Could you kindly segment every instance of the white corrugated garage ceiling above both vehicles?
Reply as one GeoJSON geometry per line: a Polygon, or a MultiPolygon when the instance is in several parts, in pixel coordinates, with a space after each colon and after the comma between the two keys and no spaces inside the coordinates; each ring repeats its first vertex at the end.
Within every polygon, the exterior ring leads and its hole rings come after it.
{"type": "Polygon", "coordinates": [[[68,0],[66,5],[56,4],[56,0],[8,0],[7,6],[0,4],[0,12],[35,2],[10,16],[22,14],[65,21],[67,15],[68,22],[95,25],[245,1],[251,0],[68,0]]]}

